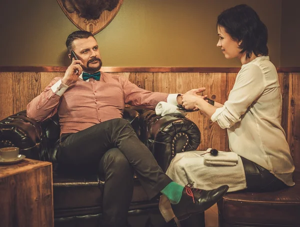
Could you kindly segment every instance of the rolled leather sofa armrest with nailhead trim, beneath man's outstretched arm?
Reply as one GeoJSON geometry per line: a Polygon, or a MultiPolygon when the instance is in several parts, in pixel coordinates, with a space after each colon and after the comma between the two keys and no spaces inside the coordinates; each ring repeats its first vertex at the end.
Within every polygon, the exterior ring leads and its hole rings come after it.
{"type": "Polygon", "coordinates": [[[140,140],[164,172],[177,153],[196,150],[199,146],[200,131],[191,120],[178,115],[157,116],[153,110],[140,113],[140,140]]]}

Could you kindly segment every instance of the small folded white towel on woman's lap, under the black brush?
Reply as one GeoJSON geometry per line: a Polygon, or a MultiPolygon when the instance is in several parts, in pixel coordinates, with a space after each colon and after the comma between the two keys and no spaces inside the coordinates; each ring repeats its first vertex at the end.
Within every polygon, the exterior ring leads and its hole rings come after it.
{"type": "MultiPolygon", "coordinates": [[[[211,148],[208,148],[206,152],[210,152],[211,148]]],[[[217,156],[212,156],[210,153],[204,155],[204,165],[214,166],[236,166],[238,161],[238,155],[234,152],[219,151],[217,156]]]]}

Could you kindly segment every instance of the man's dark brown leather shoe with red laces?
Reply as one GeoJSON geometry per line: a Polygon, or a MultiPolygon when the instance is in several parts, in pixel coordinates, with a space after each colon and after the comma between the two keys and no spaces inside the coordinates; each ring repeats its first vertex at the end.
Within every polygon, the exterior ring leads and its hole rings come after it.
{"type": "Polygon", "coordinates": [[[178,220],[188,218],[191,214],[202,213],[218,202],[228,191],[227,185],[212,190],[201,190],[186,185],[178,204],[171,204],[174,215],[178,220]]]}

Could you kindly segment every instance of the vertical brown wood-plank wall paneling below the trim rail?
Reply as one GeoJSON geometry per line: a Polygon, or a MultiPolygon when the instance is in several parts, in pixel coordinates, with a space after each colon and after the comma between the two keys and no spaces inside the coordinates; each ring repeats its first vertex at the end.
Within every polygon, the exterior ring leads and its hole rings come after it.
{"type": "MultiPolygon", "coordinates": [[[[114,72],[139,87],[166,93],[184,93],[192,88],[206,87],[204,94],[223,103],[232,89],[236,72],[114,72]]],[[[64,72],[0,72],[0,119],[26,108],[31,99],[37,96],[56,76],[64,72]]],[[[278,73],[282,94],[282,127],[293,156],[300,156],[300,73],[278,73]]],[[[200,129],[201,144],[198,150],[214,147],[228,150],[226,130],[204,117],[200,112],[188,113],[200,129]]],[[[294,157],[300,166],[300,157],[294,157]],[[299,161],[298,161],[299,160],[299,161]]]]}

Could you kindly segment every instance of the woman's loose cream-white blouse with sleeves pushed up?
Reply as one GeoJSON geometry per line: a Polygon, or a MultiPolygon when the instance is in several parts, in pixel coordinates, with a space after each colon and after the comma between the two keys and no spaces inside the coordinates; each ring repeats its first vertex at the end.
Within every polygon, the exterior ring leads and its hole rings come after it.
{"type": "Polygon", "coordinates": [[[241,66],[228,100],[211,120],[227,128],[232,152],[292,186],[294,166],[280,125],[281,104],[276,68],[261,56],[241,66]]]}

